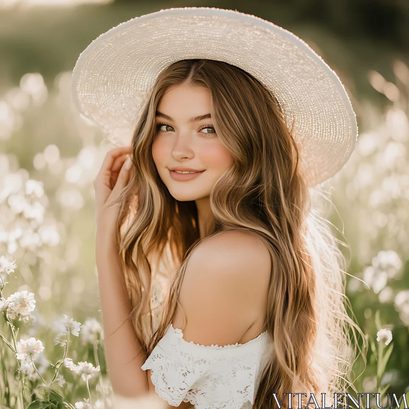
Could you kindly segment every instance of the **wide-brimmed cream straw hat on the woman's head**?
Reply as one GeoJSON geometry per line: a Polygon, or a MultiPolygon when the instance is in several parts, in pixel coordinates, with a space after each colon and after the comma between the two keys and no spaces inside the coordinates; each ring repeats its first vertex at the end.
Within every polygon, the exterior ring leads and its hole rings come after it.
{"type": "Polygon", "coordinates": [[[337,75],[303,40],[250,14],[208,7],[171,8],[132,18],[80,54],[72,78],[81,115],[116,145],[129,145],[157,75],[183,59],[240,67],[275,95],[315,186],[350,157],[357,124],[337,75]]]}

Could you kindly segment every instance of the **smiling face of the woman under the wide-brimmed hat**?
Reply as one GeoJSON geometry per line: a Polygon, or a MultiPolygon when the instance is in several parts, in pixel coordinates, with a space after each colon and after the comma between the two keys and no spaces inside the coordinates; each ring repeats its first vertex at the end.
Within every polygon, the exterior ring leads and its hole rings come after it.
{"type": "Polygon", "coordinates": [[[209,196],[217,179],[233,163],[229,150],[215,133],[210,102],[208,89],[179,84],[169,88],[157,106],[152,157],[176,200],[209,196]],[[206,117],[197,118],[201,116],[206,117]],[[200,173],[178,174],[171,171],[175,168],[200,173]]]}

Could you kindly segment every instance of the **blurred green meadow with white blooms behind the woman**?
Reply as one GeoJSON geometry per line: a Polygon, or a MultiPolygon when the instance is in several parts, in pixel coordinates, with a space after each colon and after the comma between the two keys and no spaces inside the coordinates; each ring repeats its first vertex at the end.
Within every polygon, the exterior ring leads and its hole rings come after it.
{"type": "MultiPolygon", "coordinates": [[[[407,0],[0,0],[0,256],[17,264],[12,274],[2,272],[8,281],[4,296],[27,290],[36,299],[36,320],[16,323],[19,337],[41,339],[43,359],[55,362],[63,355],[50,330],[56,319],[67,314],[81,323],[100,321],[92,181],[113,146],[71,101],[79,54],[120,22],[186,6],[236,9],[292,31],[347,88],[359,138],[350,161],[331,180],[334,208],[328,218],[348,243],[348,273],[356,278],[348,279],[347,294],[373,341],[365,370],[356,362],[355,375],[363,373],[355,387],[400,396],[409,390],[407,0]],[[393,347],[389,359],[379,355],[380,328],[393,335],[384,346],[393,347]]],[[[0,333],[7,335],[1,321],[0,333]]],[[[90,388],[102,399],[110,393],[102,344],[71,340],[68,356],[75,362],[101,365],[90,388]]],[[[0,385],[14,376],[6,350],[0,339],[0,385]]],[[[46,363],[42,371],[52,373],[46,363]]],[[[86,398],[85,383],[74,386],[67,372],[61,394],[86,398]]],[[[0,392],[0,406],[10,405],[5,399],[0,392]]]]}

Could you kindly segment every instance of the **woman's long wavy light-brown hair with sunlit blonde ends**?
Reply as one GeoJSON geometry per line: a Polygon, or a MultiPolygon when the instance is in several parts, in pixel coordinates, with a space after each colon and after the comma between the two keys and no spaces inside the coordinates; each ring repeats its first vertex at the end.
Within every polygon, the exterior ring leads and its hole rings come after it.
{"type": "Polygon", "coordinates": [[[347,313],[346,261],[337,247],[343,242],[311,206],[317,191],[299,166],[276,98],[236,66],[191,59],[164,69],[141,109],[131,142],[135,171],[119,198],[117,234],[132,304],[129,319],[146,354],[173,320],[194,248],[223,231],[240,230],[261,237],[271,257],[265,323],[271,354],[254,408],[276,407],[272,393],[280,402],[285,393],[356,392],[355,330],[364,349],[366,338],[347,313]],[[169,193],[151,154],[158,103],[182,83],[210,91],[216,133],[233,157],[211,191],[214,223],[201,239],[195,201],[178,201],[169,193]]]}

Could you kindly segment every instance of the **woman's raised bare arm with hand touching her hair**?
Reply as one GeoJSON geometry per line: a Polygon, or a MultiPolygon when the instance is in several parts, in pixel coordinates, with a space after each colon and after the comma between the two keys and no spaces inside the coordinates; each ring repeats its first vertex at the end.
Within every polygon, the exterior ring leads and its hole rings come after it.
{"type": "Polygon", "coordinates": [[[96,216],[96,263],[104,328],[108,376],[116,394],[146,395],[149,385],[141,369],[146,354],[128,320],[131,303],[122,272],[116,222],[119,207],[112,206],[128,183],[132,163],[125,164],[129,147],[110,150],[94,180],[96,216]]]}

